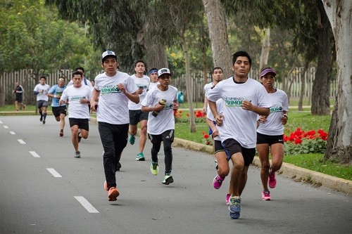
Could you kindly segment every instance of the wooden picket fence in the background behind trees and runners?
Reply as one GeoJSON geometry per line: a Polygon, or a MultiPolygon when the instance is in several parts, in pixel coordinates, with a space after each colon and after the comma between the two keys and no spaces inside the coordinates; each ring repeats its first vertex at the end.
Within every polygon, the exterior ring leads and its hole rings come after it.
{"type": "MultiPolygon", "coordinates": [[[[277,89],[283,89],[283,86],[286,87],[285,91],[291,98],[298,98],[301,91],[301,74],[302,67],[296,67],[293,72],[291,72],[287,77],[280,76],[286,85],[283,85],[282,82],[276,82],[277,89]],[[291,80],[291,89],[287,91],[289,87],[289,81],[291,80]]],[[[51,73],[46,76],[46,84],[53,86],[57,84],[58,77],[63,76],[69,81],[73,70],[58,70],[57,72],[51,73]]],[[[255,78],[259,77],[258,70],[251,70],[249,77],[255,78]]],[[[15,87],[15,82],[18,81],[25,89],[24,92],[24,102],[25,103],[35,103],[35,96],[33,95],[33,89],[35,84],[35,80],[32,78],[32,70],[20,70],[18,72],[4,72],[0,77],[0,89],[4,91],[5,103],[12,104],[15,101],[15,95],[13,94],[13,89],[15,87]]],[[[191,74],[192,82],[191,82],[191,90],[193,94],[194,102],[201,103],[204,99],[204,78],[203,73],[201,71],[194,72],[191,74]]],[[[305,74],[304,77],[306,81],[306,88],[304,90],[304,98],[310,98],[312,93],[313,80],[315,79],[315,67],[310,67],[305,74]]],[[[208,74],[206,78],[206,83],[211,82],[211,74],[208,74]]],[[[187,90],[186,90],[186,82],[185,76],[182,75],[180,77],[172,78],[172,85],[177,87],[179,91],[181,91],[184,95],[184,100],[187,101],[187,90]]],[[[334,80],[331,84],[330,96],[334,97],[337,95],[337,82],[334,80]]],[[[201,108],[201,107],[195,107],[201,108]]]]}

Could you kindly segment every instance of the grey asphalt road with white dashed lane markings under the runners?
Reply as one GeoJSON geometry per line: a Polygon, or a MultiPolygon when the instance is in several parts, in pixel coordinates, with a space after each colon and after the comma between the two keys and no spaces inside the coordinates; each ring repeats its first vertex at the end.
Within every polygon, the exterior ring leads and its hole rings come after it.
{"type": "Polygon", "coordinates": [[[213,155],[173,148],[169,186],[161,173],[137,162],[138,140],[122,154],[116,174],[120,196],[108,202],[103,189],[102,146],[97,125],[82,139],[75,159],[70,130],[48,116],[0,117],[0,233],[352,233],[351,196],[313,188],[277,176],[272,201],[262,201],[259,169],[250,167],[242,195],[241,217],[230,219],[219,190],[213,155]]]}

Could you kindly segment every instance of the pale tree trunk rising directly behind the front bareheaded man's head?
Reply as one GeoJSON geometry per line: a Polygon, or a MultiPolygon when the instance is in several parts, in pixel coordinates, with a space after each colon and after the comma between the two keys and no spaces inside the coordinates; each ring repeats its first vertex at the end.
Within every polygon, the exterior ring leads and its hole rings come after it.
{"type": "Polygon", "coordinates": [[[203,6],[208,19],[213,65],[222,67],[226,79],[231,77],[233,72],[224,9],[220,0],[203,0],[203,6]]]}

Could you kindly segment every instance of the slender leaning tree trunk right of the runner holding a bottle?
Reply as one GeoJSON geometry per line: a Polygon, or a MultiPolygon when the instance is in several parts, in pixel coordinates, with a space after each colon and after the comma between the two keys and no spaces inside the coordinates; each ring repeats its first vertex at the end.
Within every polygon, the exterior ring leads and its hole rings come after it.
{"type": "Polygon", "coordinates": [[[184,32],[180,32],[180,37],[182,41],[182,48],[184,53],[184,63],[186,65],[186,90],[187,90],[187,100],[189,104],[189,124],[191,132],[196,132],[196,120],[194,119],[194,108],[193,108],[193,94],[191,90],[191,68],[189,65],[189,54],[186,38],[184,37],[184,32]]]}

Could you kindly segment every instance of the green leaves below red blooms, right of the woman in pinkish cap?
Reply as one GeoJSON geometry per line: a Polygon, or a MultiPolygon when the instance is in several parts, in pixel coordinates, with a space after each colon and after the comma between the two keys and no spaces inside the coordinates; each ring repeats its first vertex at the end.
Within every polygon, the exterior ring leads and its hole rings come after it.
{"type": "Polygon", "coordinates": [[[327,141],[320,138],[303,139],[302,143],[284,143],[284,152],[287,155],[300,155],[308,153],[325,153],[327,141]]]}

